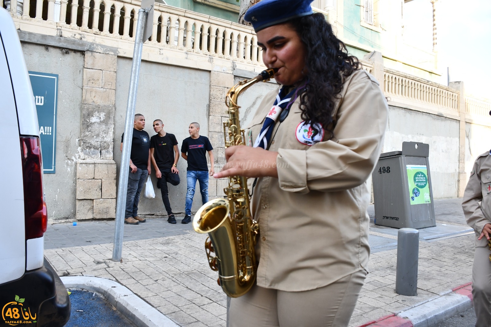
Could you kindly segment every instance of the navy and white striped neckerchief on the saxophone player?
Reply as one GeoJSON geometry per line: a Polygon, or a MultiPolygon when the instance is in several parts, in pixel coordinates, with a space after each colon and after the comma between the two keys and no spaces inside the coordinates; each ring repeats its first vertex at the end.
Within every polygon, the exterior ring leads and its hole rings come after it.
{"type": "Polygon", "coordinates": [[[283,86],[276,95],[276,100],[274,101],[273,107],[266,115],[263,127],[261,128],[261,132],[254,142],[254,148],[259,147],[265,150],[268,149],[268,144],[271,140],[271,136],[273,135],[274,123],[276,122],[276,119],[278,119],[281,111],[283,111],[283,109],[285,109],[293,102],[290,100],[292,99],[292,96],[294,95],[296,89],[293,89],[292,91],[290,91],[290,93],[285,95],[287,90],[288,86],[283,86]]]}

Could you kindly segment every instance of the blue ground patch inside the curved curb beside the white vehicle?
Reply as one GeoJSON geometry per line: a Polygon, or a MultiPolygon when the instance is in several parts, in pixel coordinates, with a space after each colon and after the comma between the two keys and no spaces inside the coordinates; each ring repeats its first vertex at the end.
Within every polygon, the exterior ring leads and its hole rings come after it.
{"type": "Polygon", "coordinates": [[[136,327],[100,294],[85,290],[70,290],[72,310],[65,327],[136,327]],[[77,311],[83,310],[83,312],[77,311]]]}

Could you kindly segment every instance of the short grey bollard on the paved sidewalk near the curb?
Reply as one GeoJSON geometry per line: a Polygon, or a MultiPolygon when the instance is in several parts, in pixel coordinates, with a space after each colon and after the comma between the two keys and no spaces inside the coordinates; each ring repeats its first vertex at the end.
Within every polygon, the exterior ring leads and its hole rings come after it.
{"type": "Polygon", "coordinates": [[[416,296],[418,287],[419,232],[401,228],[397,233],[396,293],[416,296]]]}

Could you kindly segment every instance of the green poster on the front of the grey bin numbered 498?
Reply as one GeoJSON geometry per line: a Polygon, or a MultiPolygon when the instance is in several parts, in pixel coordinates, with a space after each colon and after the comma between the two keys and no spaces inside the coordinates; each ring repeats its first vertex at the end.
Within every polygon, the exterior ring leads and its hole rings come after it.
{"type": "Polygon", "coordinates": [[[406,169],[408,171],[410,204],[431,203],[426,165],[408,164],[406,169]]]}

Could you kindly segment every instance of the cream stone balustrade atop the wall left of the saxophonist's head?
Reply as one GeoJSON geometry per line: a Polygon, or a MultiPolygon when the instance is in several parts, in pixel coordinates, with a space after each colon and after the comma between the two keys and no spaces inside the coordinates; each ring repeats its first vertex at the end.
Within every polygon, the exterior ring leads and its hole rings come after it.
{"type": "MultiPolygon", "coordinates": [[[[133,40],[136,33],[139,1],[35,0],[30,2],[35,2],[35,8],[30,8],[29,1],[24,0],[22,15],[14,10],[18,1],[6,1],[4,5],[14,18],[117,39],[133,40]]],[[[252,27],[159,3],[155,3],[149,44],[247,63],[262,62],[252,27]]]]}

